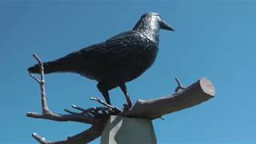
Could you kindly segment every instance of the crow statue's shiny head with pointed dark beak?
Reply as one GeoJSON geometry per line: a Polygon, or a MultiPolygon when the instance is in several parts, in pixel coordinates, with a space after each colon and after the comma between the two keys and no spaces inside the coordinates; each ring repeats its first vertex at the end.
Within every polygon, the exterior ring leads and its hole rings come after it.
{"type": "Polygon", "coordinates": [[[146,13],[142,14],[142,17],[134,26],[134,30],[150,29],[150,30],[172,30],[173,27],[168,25],[158,13],[146,13]]]}

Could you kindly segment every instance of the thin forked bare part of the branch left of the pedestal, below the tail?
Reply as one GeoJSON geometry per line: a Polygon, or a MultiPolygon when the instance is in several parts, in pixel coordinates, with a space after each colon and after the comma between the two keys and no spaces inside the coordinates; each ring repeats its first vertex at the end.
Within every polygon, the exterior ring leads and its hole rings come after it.
{"type": "MultiPolygon", "coordinates": [[[[44,119],[49,119],[49,120],[54,120],[54,121],[59,121],[59,122],[66,122],[66,121],[72,121],[72,122],[83,122],[83,123],[88,123],[91,124],[92,126],[90,129],[83,131],[80,134],[76,134],[74,136],[68,137],[66,140],[63,141],[58,141],[58,142],[50,142],[46,141],[45,138],[42,138],[38,134],[34,133],[32,134],[33,138],[36,139],[38,142],[42,144],[84,144],[87,142],[90,142],[94,140],[95,138],[98,138],[102,134],[102,129],[105,126],[105,123],[107,121],[108,116],[104,115],[104,117],[100,117],[102,114],[97,113],[95,110],[87,110],[88,112],[86,114],[78,114],[78,113],[70,113],[70,114],[56,114],[53,113],[46,100],[46,89],[45,89],[45,79],[44,79],[44,72],[43,72],[43,65],[41,60],[38,58],[36,54],[34,54],[34,58],[38,61],[38,64],[40,66],[41,70],[41,78],[37,78],[34,76],[34,74],[30,73],[30,76],[34,78],[36,82],[39,83],[40,89],[41,89],[41,100],[42,100],[42,114],[38,114],[35,112],[28,112],[26,114],[27,117],[31,118],[44,118],[44,119]]],[[[75,106],[72,106],[75,107],[75,106]]],[[[76,106],[75,108],[78,108],[76,106]]]]}

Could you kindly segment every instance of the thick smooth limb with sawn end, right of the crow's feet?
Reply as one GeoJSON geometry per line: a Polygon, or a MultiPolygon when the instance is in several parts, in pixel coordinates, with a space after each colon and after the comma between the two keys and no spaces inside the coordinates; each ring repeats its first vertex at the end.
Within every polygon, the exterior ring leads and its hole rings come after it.
{"type": "Polygon", "coordinates": [[[213,98],[214,94],[214,85],[206,78],[200,78],[198,82],[173,95],[154,100],[139,99],[131,110],[119,115],[133,118],[160,118],[162,115],[205,102],[209,98],[213,98]]]}

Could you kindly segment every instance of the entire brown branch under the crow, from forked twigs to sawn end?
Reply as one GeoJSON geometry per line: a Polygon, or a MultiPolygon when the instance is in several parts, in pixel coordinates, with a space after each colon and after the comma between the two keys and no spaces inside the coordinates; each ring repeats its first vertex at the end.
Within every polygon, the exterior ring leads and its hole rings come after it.
{"type": "Polygon", "coordinates": [[[196,106],[202,102],[206,102],[210,98],[214,98],[214,86],[206,78],[200,78],[197,82],[194,82],[194,84],[188,87],[182,86],[182,83],[178,78],[175,78],[178,86],[175,89],[174,94],[154,100],[139,99],[130,110],[122,111],[117,107],[108,105],[100,98],[90,98],[91,100],[101,103],[105,107],[83,109],[73,105],[72,107],[79,112],[65,110],[68,114],[56,114],[50,110],[46,101],[45,78],[42,62],[36,54],[34,54],[34,58],[38,61],[41,69],[40,79],[31,73],[30,76],[39,83],[41,89],[42,114],[28,112],[26,116],[31,118],[44,118],[58,122],[83,122],[91,125],[88,130],[58,142],[46,141],[45,138],[42,138],[38,134],[32,134],[33,138],[42,144],[84,144],[101,136],[102,130],[110,115],[114,114],[153,120],[155,118],[162,118],[162,115],[196,106]]]}

